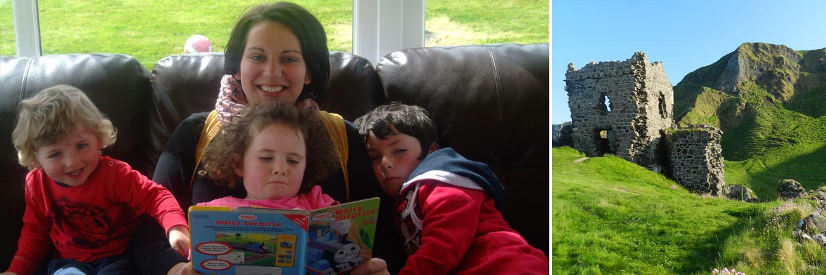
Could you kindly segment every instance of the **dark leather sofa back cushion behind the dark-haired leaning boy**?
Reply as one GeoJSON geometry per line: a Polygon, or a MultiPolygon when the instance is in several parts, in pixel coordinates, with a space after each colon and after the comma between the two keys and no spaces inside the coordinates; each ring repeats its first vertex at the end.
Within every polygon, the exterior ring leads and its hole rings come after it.
{"type": "Polygon", "coordinates": [[[424,107],[442,147],[490,165],[506,188],[506,220],[546,254],[548,54],[548,44],[429,47],[376,66],[388,102],[424,107]]]}

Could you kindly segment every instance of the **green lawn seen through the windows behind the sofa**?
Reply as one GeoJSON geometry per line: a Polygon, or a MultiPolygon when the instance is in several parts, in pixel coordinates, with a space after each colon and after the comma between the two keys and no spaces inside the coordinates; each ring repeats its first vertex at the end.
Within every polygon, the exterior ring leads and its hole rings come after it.
{"type": "MultiPolygon", "coordinates": [[[[261,0],[148,1],[40,0],[44,55],[118,53],[132,55],[148,69],[183,53],[183,42],[201,34],[223,51],[232,26],[246,7],[261,0]]],[[[325,26],[330,50],[353,51],[353,5],[342,0],[295,1],[325,26]]],[[[426,45],[547,43],[548,2],[544,0],[428,1],[426,45]]],[[[17,55],[11,0],[0,0],[0,55],[17,55]]]]}

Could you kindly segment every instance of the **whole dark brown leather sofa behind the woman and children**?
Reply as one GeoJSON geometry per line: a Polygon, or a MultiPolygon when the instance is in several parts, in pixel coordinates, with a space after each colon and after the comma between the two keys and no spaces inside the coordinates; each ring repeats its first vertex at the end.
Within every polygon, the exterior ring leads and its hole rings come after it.
{"type": "MultiPolygon", "coordinates": [[[[430,47],[386,55],[373,67],[334,52],[320,107],[349,121],[385,102],[425,107],[443,147],[491,166],[506,187],[506,220],[548,254],[548,53],[548,44],[430,47]]],[[[118,129],[104,154],[151,177],[178,122],[214,107],[222,68],[221,53],[169,56],[151,73],[129,55],[0,57],[0,270],[17,250],[25,210],[27,171],[11,141],[22,99],[56,84],[87,92],[118,129]]]]}

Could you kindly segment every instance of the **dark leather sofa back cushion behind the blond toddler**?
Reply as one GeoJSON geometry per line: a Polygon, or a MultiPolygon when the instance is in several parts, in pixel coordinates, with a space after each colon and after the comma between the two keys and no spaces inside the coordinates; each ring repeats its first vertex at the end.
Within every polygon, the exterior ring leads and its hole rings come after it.
{"type": "MultiPolygon", "coordinates": [[[[67,84],[86,92],[117,129],[117,140],[103,150],[133,166],[140,164],[145,132],[145,109],[150,99],[149,71],[129,55],[45,55],[0,57],[0,267],[7,267],[20,236],[26,169],[17,164],[12,130],[20,101],[45,88],[67,84]],[[8,245],[6,245],[8,244],[8,245]]],[[[140,167],[135,167],[145,173],[140,167]]]]}

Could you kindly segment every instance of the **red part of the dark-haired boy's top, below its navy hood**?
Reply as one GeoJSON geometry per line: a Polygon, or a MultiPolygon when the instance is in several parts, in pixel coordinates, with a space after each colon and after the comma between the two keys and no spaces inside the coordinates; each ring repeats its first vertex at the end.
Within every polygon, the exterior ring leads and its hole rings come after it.
{"type": "Polygon", "coordinates": [[[484,191],[436,180],[420,182],[415,196],[413,189],[396,202],[400,214],[411,195],[421,224],[415,233],[415,222],[396,215],[411,254],[400,275],[548,274],[548,258],[508,226],[484,191]]]}

